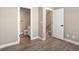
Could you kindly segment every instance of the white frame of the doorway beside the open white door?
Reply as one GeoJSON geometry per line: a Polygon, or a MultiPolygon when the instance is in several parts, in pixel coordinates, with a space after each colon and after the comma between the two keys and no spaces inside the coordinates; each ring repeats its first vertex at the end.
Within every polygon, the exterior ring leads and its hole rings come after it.
{"type": "MultiPolygon", "coordinates": [[[[53,15],[53,9],[46,8],[46,7],[43,8],[43,35],[44,35],[43,40],[46,40],[46,10],[52,11],[52,15],[53,15]]],[[[51,20],[51,22],[52,22],[52,20],[51,20]]],[[[52,27],[52,25],[51,25],[51,27],[52,27]]],[[[51,30],[52,30],[52,28],[51,28],[51,30]]]]}

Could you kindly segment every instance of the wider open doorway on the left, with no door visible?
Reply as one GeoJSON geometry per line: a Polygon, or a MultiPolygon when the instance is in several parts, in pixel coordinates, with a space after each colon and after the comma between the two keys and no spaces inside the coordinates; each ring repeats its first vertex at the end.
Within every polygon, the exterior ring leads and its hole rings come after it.
{"type": "Polygon", "coordinates": [[[31,40],[31,10],[20,8],[20,43],[28,43],[31,40]]]}

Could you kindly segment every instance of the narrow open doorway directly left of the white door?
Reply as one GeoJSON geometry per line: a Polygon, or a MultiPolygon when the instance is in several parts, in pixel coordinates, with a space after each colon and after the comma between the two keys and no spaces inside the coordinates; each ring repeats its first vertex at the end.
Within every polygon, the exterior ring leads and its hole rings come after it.
{"type": "Polygon", "coordinates": [[[52,9],[46,9],[46,39],[52,37],[52,9]]]}

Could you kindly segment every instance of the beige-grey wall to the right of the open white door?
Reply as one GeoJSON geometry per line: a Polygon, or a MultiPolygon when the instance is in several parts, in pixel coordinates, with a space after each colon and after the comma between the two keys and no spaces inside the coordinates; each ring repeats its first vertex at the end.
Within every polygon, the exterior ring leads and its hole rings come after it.
{"type": "Polygon", "coordinates": [[[79,43],[79,7],[66,7],[64,9],[65,38],[79,43]]]}

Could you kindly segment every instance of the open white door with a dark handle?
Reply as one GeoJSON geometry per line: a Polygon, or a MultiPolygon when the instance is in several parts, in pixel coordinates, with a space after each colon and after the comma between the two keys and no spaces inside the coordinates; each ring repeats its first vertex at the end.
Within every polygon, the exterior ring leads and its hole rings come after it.
{"type": "Polygon", "coordinates": [[[64,38],[64,8],[53,11],[53,37],[64,38]]]}

